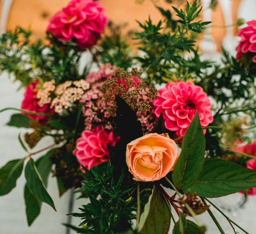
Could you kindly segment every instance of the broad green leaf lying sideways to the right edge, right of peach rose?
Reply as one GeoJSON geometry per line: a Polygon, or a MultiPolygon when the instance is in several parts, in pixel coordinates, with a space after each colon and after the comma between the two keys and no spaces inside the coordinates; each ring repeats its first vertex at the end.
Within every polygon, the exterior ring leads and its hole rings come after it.
{"type": "Polygon", "coordinates": [[[256,170],[220,158],[205,160],[195,183],[185,191],[207,198],[222,197],[256,187],[256,170]]]}

